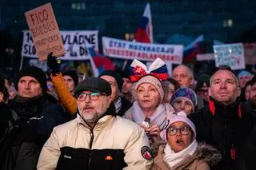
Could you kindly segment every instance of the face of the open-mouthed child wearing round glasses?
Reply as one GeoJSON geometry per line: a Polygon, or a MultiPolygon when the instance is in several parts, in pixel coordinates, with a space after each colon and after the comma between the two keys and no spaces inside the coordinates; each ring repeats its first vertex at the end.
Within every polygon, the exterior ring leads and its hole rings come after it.
{"type": "Polygon", "coordinates": [[[167,142],[175,153],[181,152],[192,143],[193,132],[189,125],[182,121],[174,122],[167,129],[167,142]],[[176,131],[176,134],[172,134],[176,131]],[[183,134],[182,134],[183,133],[183,134]]]}

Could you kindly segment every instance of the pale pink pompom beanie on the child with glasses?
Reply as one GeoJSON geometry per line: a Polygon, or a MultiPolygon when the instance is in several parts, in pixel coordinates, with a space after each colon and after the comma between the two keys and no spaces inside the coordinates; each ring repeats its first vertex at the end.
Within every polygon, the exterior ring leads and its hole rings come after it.
{"type": "Polygon", "coordinates": [[[173,117],[168,119],[168,121],[169,122],[166,123],[166,125],[165,125],[164,129],[162,130],[162,132],[160,132],[160,137],[162,138],[162,140],[165,140],[167,142],[166,130],[170,127],[170,125],[172,125],[174,122],[177,122],[177,121],[182,121],[182,122],[186,123],[186,125],[189,125],[190,128],[194,132],[193,139],[196,138],[197,132],[195,130],[194,123],[192,121],[190,121],[189,118],[186,117],[186,113],[184,111],[180,111],[179,113],[177,113],[176,115],[174,115],[173,117]]]}

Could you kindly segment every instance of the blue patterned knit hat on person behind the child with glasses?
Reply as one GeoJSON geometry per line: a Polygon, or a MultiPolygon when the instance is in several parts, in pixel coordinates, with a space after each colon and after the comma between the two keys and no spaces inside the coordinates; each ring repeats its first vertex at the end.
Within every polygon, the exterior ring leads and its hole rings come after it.
{"type": "Polygon", "coordinates": [[[173,96],[170,98],[170,105],[174,105],[174,102],[180,98],[185,99],[186,101],[189,101],[193,106],[193,112],[194,112],[196,105],[198,105],[197,95],[194,93],[194,90],[184,86],[178,88],[174,92],[173,96]]]}

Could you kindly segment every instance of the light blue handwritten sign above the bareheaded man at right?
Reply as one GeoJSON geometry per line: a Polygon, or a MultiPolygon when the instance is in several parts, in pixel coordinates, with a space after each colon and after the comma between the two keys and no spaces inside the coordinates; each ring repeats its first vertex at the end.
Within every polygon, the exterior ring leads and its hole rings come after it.
{"type": "Polygon", "coordinates": [[[242,43],[214,45],[215,65],[229,65],[231,69],[245,69],[242,43]]]}

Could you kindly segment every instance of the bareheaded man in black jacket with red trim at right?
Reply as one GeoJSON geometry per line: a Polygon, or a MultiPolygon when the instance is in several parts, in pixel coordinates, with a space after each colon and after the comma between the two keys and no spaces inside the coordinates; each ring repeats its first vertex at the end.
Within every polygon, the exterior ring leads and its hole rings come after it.
{"type": "Polygon", "coordinates": [[[198,140],[206,141],[222,152],[217,169],[244,169],[247,141],[255,120],[238,101],[241,89],[238,77],[227,65],[219,66],[210,77],[209,105],[191,114],[198,140]]]}

